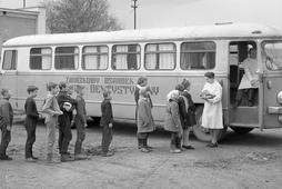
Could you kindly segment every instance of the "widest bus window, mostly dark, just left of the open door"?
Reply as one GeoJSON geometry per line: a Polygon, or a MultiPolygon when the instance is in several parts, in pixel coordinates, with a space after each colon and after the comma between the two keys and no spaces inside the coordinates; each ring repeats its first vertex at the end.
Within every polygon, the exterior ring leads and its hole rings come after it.
{"type": "Polygon", "coordinates": [[[183,42],[180,67],[182,70],[212,69],[215,66],[214,42],[183,42]]]}

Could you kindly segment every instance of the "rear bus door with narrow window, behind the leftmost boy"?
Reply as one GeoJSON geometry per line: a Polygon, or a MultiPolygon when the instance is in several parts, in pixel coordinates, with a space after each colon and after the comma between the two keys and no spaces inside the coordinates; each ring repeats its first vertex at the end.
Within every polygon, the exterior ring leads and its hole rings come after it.
{"type": "Polygon", "coordinates": [[[17,50],[4,50],[2,59],[1,89],[11,91],[11,105],[18,108],[18,71],[17,71],[17,50]]]}

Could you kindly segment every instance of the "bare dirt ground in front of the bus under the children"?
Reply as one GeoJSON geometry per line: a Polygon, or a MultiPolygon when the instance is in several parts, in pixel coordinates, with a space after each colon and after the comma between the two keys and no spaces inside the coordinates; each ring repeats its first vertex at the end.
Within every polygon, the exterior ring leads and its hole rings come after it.
{"type": "MultiPolygon", "coordinates": [[[[70,145],[73,152],[75,130],[70,145]]],[[[282,129],[253,130],[239,136],[228,132],[216,149],[192,138],[195,150],[169,152],[169,135],[157,131],[149,143],[151,153],[137,149],[133,126],[114,126],[113,157],[99,156],[101,129],[87,129],[84,141],[89,160],[48,165],[46,128],[37,129],[36,163],[24,161],[26,130],[12,128],[8,153],[12,161],[0,161],[0,188],[160,188],[160,189],[280,189],[282,186],[282,129]]],[[[57,157],[59,160],[59,156],[57,157]]]]}

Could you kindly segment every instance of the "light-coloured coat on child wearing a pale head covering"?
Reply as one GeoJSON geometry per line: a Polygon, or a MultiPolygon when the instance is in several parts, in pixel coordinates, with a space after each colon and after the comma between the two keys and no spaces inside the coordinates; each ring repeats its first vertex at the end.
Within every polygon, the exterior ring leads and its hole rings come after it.
{"type": "Polygon", "coordinates": [[[165,110],[164,129],[171,132],[179,132],[180,127],[179,105],[177,101],[170,100],[165,110]]]}

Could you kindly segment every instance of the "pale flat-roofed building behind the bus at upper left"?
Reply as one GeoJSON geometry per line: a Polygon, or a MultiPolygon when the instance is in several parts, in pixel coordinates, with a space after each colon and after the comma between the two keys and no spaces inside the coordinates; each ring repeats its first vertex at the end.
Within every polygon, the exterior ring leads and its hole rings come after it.
{"type": "Polygon", "coordinates": [[[44,8],[0,8],[0,50],[2,43],[8,39],[41,33],[46,33],[44,8]]]}

